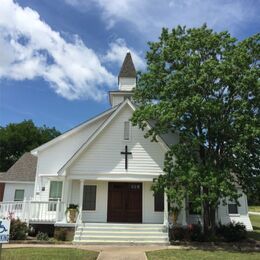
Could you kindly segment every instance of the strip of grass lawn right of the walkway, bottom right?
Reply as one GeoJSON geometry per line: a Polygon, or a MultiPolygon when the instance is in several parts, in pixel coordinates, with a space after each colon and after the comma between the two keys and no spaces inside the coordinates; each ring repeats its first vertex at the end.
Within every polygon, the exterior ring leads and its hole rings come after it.
{"type": "Polygon", "coordinates": [[[200,259],[243,259],[243,260],[259,260],[259,252],[229,252],[222,250],[189,250],[189,249],[166,249],[153,252],[146,252],[148,260],[168,260],[168,259],[185,259],[185,260],[200,260],[200,259]]]}

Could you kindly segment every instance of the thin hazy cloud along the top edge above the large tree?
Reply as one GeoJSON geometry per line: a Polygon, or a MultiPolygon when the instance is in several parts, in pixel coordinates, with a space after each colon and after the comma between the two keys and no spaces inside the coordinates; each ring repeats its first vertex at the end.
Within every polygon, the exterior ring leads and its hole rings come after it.
{"type": "Polygon", "coordinates": [[[140,37],[158,37],[162,27],[178,24],[188,27],[207,23],[215,30],[240,30],[243,23],[259,19],[254,1],[244,0],[66,0],[81,10],[95,5],[100,8],[103,20],[111,28],[127,21],[136,28],[140,37]],[[87,3],[87,4],[86,4],[87,3]]]}

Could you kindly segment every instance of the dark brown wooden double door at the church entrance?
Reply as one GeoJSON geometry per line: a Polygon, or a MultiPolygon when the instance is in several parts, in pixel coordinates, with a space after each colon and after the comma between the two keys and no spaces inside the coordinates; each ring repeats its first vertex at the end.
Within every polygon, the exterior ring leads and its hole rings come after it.
{"type": "Polygon", "coordinates": [[[142,183],[108,184],[108,222],[142,222],[142,183]]]}

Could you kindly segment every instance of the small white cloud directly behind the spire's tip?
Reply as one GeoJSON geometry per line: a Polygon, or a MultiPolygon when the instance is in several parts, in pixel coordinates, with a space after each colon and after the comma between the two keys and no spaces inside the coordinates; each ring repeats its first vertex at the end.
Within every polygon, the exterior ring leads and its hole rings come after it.
{"type": "Polygon", "coordinates": [[[146,65],[141,58],[141,53],[136,52],[133,48],[127,47],[126,42],[123,39],[117,39],[109,44],[109,50],[102,58],[104,62],[115,63],[121,66],[127,51],[131,52],[131,56],[137,70],[144,70],[146,65]]]}

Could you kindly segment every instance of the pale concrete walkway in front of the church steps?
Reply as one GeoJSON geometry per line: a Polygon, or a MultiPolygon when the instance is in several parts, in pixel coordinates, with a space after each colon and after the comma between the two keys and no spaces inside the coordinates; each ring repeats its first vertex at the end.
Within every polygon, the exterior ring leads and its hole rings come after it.
{"type": "Polygon", "coordinates": [[[180,249],[181,246],[160,246],[160,245],[53,245],[53,244],[4,244],[3,248],[25,248],[25,247],[57,247],[77,248],[99,252],[97,260],[146,260],[147,251],[161,249],[180,249]]]}

